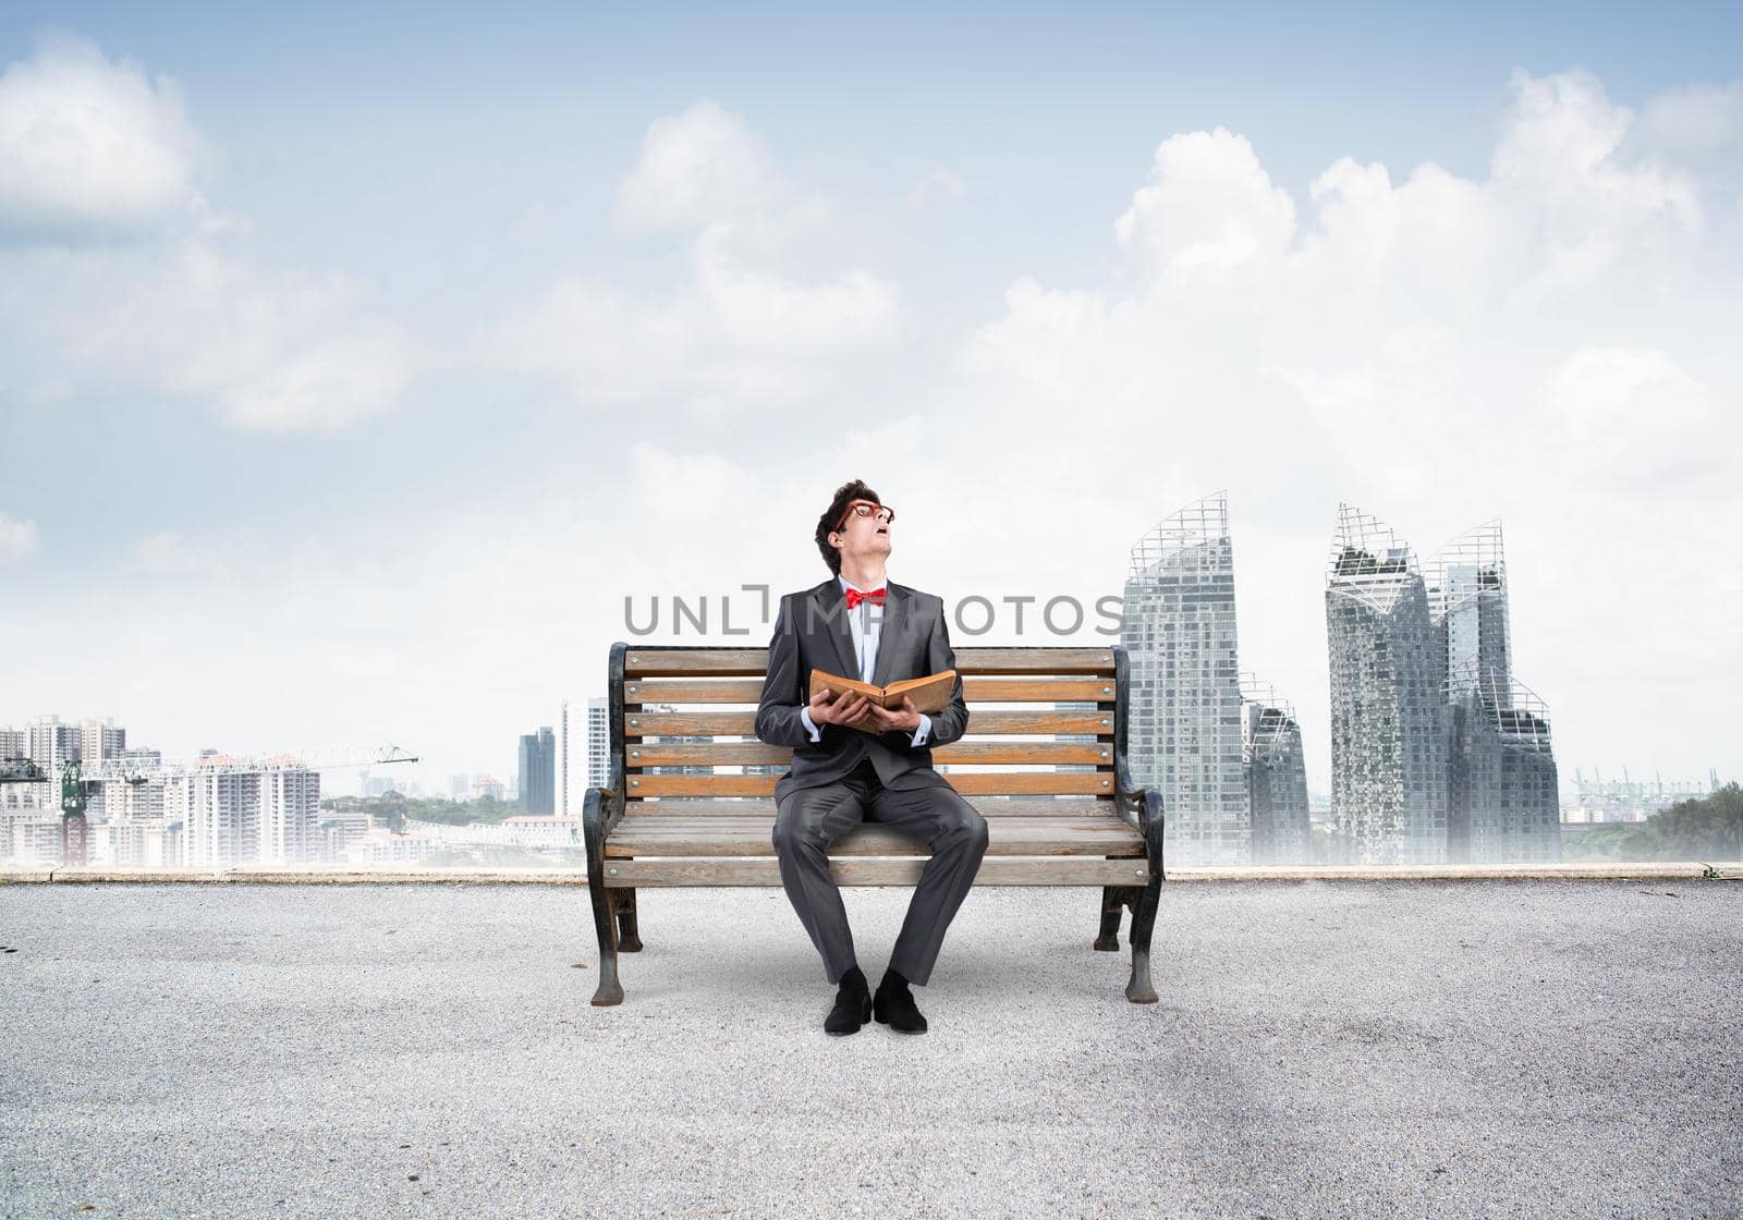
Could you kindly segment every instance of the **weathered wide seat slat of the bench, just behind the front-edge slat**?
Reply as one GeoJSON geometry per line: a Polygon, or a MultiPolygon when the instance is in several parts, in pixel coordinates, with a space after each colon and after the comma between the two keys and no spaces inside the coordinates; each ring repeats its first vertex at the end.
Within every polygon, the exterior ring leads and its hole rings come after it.
{"type": "MultiPolygon", "coordinates": [[[[1112,816],[987,819],[988,856],[1143,856],[1143,837],[1112,816]]],[[[607,856],[774,856],[772,817],[640,817],[629,814],[607,856]]],[[[861,823],[830,844],[830,856],[929,856],[924,842],[861,823]]]]}

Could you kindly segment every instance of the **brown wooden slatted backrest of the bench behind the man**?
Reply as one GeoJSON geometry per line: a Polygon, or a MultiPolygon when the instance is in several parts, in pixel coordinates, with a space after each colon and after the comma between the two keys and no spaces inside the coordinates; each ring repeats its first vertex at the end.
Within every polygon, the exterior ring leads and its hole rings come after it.
{"type": "MultiPolygon", "coordinates": [[[[1126,654],[957,648],[967,734],[933,749],[966,796],[1112,802],[1124,749],[1126,654]]],[[[774,796],[793,755],[756,741],[767,648],[612,647],[612,770],[629,812],[743,814],[774,796]]],[[[1025,802],[1027,803],[1027,802],[1025,802]]],[[[1002,805],[983,812],[999,812],[1002,805]]],[[[1016,802],[1009,812],[1021,812],[1016,802]]]]}

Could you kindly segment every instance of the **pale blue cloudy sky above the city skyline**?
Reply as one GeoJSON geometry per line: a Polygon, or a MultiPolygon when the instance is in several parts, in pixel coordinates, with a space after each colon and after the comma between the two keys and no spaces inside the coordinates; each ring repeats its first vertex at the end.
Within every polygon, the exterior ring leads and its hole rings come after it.
{"type": "Polygon", "coordinates": [[[835,481],[807,467],[858,462],[917,509],[892,575],[941,593],[1117,591],[1150,523],[1227,486],[1243,668],[1300,706],[1316,779],[1337,500],[1422,552],[1502,516],[1563,767],[1736,772],[1722,732],[1659,725],[1738,711],[1698,674],[1738,659],[1713,617],[1743,580],[1698,556],[1736,472],[1740,24],[9,5],[0,148],[7,105],[91,89],[162,173],[66,160],[40,125],[14,146],[66,180],[0,167],[0,643],[33,657],[0,722],[507,772],[516,732],[593,694],[624,593],[816,579],[784,523],[835,481]],[[673,148],[730,188],[661,171],[673,148]],[[1037,450],[1061,418],[1074,443],[1037,450]],[[1516,420],[1489,460],[1475,437],[1516,420]],[[1044,525],[964,532],[1018,472],[1044,525]],[[1665,626],[1705,666],[1583,575],[1645,570],[1685,518],[1673,582],[1713,601],[1665,626]],[[678,552],[648,561],[655,532],[678,552]],[[270,680],[214,716],[214,664],[270,680]]]}

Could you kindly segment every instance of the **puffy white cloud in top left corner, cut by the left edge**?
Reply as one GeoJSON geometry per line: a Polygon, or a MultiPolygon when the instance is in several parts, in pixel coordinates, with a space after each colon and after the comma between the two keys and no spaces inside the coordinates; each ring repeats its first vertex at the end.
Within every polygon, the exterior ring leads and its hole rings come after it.
{"type": "Polygon", "coordinates": [[[47,42],[0,75],[0,228],[134,228],[200,206],[206,148],[176,82],[47,42]]]}

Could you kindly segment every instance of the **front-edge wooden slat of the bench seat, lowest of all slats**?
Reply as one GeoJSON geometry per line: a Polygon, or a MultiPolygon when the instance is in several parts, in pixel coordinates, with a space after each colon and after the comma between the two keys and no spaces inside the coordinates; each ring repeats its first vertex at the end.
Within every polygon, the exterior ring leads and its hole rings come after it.
{"type": "MultiPolygon", "coordinates": [[[[837,885],[913,885],[926,861],[831,859],[837,885]]],[[[987,856],[974,873],[976,885],[1147,885],[1150,866],[1142,859],[1088,859],[1053,856],[987,856]]],[[[624,859],[605,868],[607,889],[659,885],[779,885],[776,859],[624,859]]]]}

